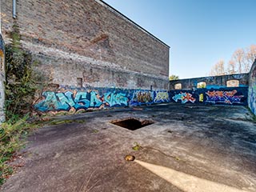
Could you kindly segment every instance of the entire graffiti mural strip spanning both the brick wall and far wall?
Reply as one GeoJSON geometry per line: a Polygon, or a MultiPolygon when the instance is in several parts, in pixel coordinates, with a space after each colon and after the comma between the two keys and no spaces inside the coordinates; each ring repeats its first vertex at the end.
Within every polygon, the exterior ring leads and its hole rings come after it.
{"type": "Polygon", "coordinates": [[[77,111],[90,108],[116,106],[141,106],[162,102],[181,102],[197,104],[247,105],[248,88],[237,89],[197,89],[197,90],[123,90],[95,88],[90,90],[62,89],[45,91],[34,105],[35,110],[77,111]]]}

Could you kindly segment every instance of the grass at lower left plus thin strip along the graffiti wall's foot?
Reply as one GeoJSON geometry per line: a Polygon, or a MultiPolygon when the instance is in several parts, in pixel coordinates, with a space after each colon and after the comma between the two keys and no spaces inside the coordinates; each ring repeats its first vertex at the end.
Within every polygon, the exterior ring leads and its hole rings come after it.
{"type": "Polygon", "coordinates": [[[25,147],[26,138],[31,130],[42,126],[57,126],[65,123],[83,123],[85,120],[58,120],[50,118],[37,119],[29,123],[28,116],[20,119],[10,119],[0,126],[0,186],[14,173],[15,167],[10,163],[15,158],[15,154],[22,147],[25,147]]]}

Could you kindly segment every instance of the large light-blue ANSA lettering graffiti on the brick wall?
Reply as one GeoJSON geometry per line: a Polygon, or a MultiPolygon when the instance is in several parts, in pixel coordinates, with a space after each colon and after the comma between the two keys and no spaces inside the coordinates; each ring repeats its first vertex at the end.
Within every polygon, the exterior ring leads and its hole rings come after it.
{"type": "Polygon", "coordinates": [[[104,106],[127,106],[128,98],[122,93],[98,94],[97,91],[66,91],[64,93],[55,93],[52,91],[43,92],[41,102],[34,105],[36,110],[47,112],[50,110],[86,110],[92,107],[104,106]]]}

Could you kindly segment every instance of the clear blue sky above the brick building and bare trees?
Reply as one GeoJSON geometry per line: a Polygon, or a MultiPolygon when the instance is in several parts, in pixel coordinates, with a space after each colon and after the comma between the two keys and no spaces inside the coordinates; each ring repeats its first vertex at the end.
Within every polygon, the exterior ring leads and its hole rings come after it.
{"type": "Polygon", "coordinates": [[[170,46],[170,74],[203,77],[256,44],[256,0],[104,0],[170,46]]]}

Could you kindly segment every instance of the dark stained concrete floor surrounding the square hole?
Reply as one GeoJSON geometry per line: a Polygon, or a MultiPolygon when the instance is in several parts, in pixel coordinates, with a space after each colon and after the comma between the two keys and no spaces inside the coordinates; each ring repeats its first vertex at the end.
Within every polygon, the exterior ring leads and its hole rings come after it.
{"type": "Polygon", "coordinates": [[[58,117],[82,121],[34,132],[17,160],[24,166],[2,191],[197,191],[191,190],[196,187],[204,191],[196,181],[185,181],[180,187],[181,182],[174,181],[178,174],[168,180],[140,161],[237,190],[256,191],[256,124],[250,118],[243,106],[178,104],[58,117]],[[154,124],[127,130],[110,123],[125,118],[154,124]],[[140,150],[132,149],[134,142],[142,146],[140,150]],[[138,162],[127,162],[126,154],[138,162]]]}

